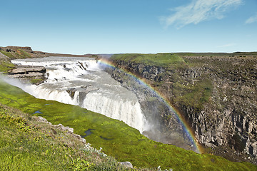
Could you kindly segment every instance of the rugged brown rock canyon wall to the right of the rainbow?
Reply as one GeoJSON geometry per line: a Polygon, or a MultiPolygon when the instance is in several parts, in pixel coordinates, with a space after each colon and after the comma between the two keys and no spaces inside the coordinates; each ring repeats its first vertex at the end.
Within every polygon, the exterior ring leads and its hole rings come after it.
{"type": "MultiPolygon", "coordinates": [[[[216,155],[257,164],[256,56],[183,56],[181,67],[119,61],[183,113],[196,139],[216,155]]],[[[126,82],[119,74],[112,76],[126,82]]],[[[131,88],[133,90],[133,88],[131,88]]],[[[170,119],[163,118],[169,125],[170,119]]]]}

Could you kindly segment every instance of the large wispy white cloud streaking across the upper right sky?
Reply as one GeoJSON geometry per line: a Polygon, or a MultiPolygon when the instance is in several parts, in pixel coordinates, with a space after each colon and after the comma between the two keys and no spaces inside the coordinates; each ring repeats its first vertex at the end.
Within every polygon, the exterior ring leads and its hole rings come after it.
{"type": "Polygon", "coordinates": [[[224,13],[242,4],[243,0],[193,0],[187,6],[178,6],[171,16],[164,16],[161,22],[166,27],[174,25],[181,28],[188,24],[198,24],[209,19],[223,19],[224,13]]]}

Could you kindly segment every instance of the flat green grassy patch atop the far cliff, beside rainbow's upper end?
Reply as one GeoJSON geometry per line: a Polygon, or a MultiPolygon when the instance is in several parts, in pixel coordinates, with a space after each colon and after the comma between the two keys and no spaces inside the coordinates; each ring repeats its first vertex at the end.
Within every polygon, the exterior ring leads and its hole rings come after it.
{"type": "Polygon", "coordinates": [[[114,61],[125,61],[135,63],[145,63],[150,66],[161,67],[179,67],[185,63],[183,58],[175,53],[157,53],[157,54],[115,54],[111,57],[114,61]]]}

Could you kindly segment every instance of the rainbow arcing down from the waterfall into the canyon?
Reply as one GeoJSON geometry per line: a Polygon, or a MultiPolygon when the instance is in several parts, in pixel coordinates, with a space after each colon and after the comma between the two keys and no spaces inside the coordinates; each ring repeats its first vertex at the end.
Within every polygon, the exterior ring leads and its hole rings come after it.
{"type": "MultiPolygon", "coordinates": [[[[111,68],[116,68],[116,66],[114,66],[114,64],[111,63],[111,61],[108,61],[104,58],[101,58],[97,62],[104,65],[104,66],[108,66],[108,67],[111,67],[111,68]]],[[[163,101],[163,103],[166,104],[168,109],[173,111],[173,113],[176,114],[176,117],[178,118],[179,122],[182,124],[182,126],[184,128],[183,130],[186,131],[186,135],[188,135],[188,138],[190,138],[190,141],[192,142],[194,149],[196,149],[196,152],[203,153],[203,150],[201,150],[201,145],[199,145],[198,142],[196,141],[196,137],[193,133],[192,128],[189,126],[188,122],[183,118],[183,115],[181,115],[181,113],[179,113],[178,110],[173,108],[171,103],[168,100],[166,100],[166,98],[164,98],[164,96],[161,95],[161,93],[159,93],[158,90],[153,88],[149,83],[146,83],[146,81],[143,81],[142,78],[139,78],[138,76],[133,75],[133,73],[129,73],[129,72],[127,72],[127,71],[125,71],[124,69],[121,69],[121,68],[119,68],[119,70],[124,71],[125,73],[129,74],[129,76],[131,76],[133,79],[135,79],[138,83],[145,86],[146,88],[149,88],[156,95],[156,97],[158,97],[161,101],[163,101]]]]}

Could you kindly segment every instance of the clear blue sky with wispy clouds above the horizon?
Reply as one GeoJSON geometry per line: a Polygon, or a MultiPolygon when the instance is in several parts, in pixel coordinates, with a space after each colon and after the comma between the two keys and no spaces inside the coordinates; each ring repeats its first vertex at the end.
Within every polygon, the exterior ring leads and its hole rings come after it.
{"type": "Polygon", "coordinates": [[[0,46],[54,53],[257,51],[257,0],[0,0],[0,46]]]}

